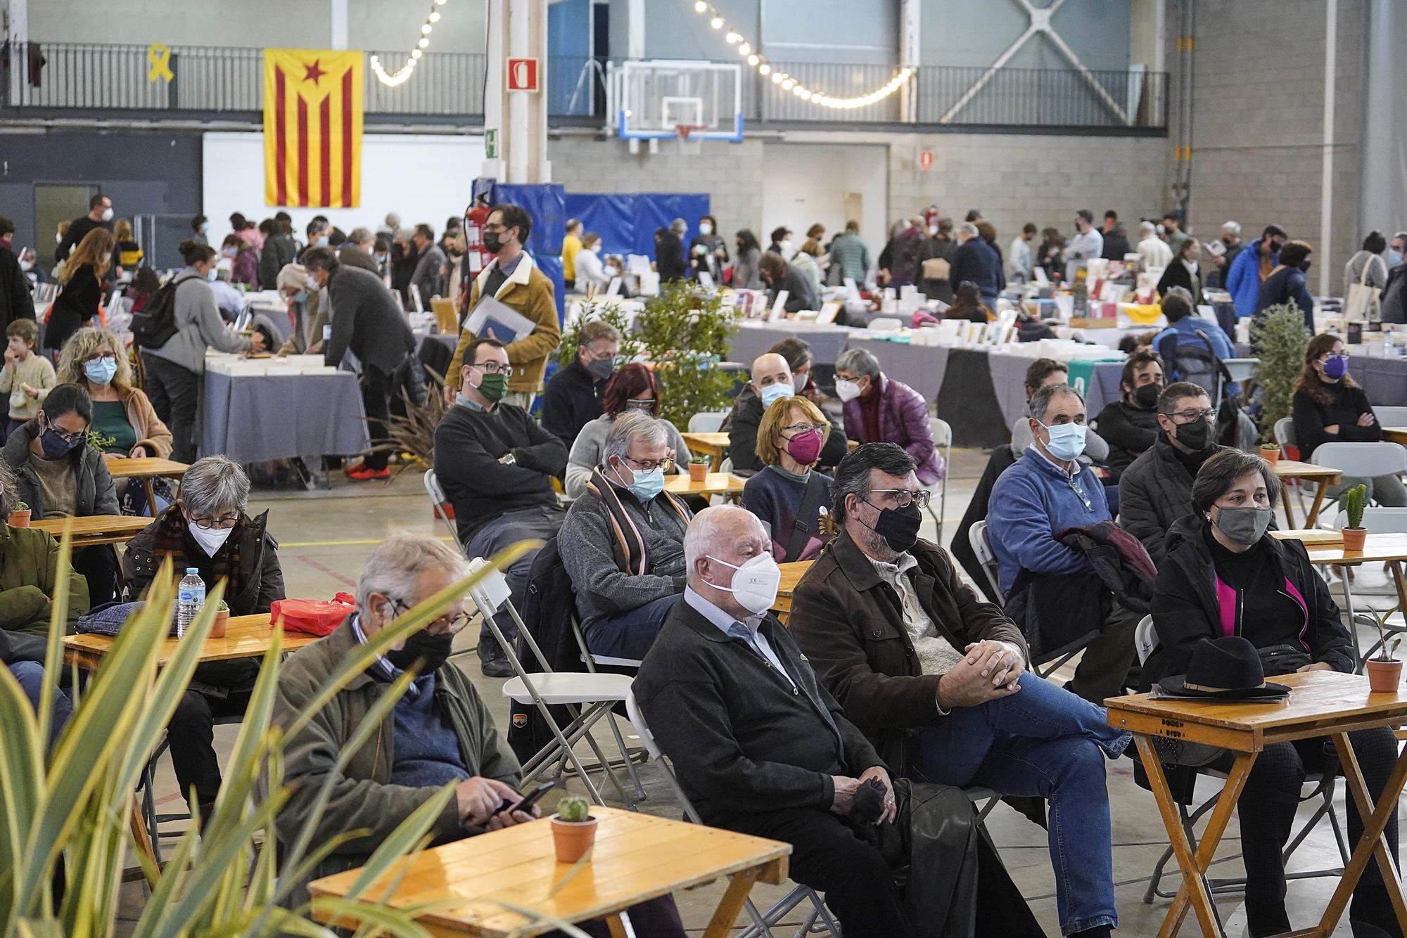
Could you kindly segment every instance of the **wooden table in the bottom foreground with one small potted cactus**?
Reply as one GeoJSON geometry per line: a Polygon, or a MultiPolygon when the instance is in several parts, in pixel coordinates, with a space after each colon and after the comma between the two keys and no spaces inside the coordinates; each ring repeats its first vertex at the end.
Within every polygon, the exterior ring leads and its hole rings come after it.
{"type": "MultiPolygon", "coordinates": [[[[571,863],[557,862],[552,825],[539,820],[426,849],[393,868],[364,897],[397,908],[433,903],[416,918],[432,935],[508,938],[554,928],[511,908],[518,907],[573,924],[605,918],[612,937],[619,937],[628,934],[620,913],[630,906],[726,876],[727,890],[704,930],[704,938],[723,938],[753,883],[787,878],[791,844],[613,807],[592,806],[591,814],[598,818],[595,847],[575,873],[571,863]],[[397,879],[400,885],[386,894],[388,880],[397,879]]],[[[308,890],[345,896],[359,875],[353,869],[328,876],[308,890]]]]}

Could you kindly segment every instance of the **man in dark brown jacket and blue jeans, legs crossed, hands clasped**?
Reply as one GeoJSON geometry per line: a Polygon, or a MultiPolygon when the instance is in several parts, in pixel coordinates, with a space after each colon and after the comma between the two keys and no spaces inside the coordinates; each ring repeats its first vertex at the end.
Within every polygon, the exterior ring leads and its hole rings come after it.
{"type": "Polygon", "coordinates": [[[1130,737],[1102,707],[1024,674],[1016,624],[919,540],[927,495],[892,443],[841,460],[841,527],[796,585],[796,644],[899,775],[1048,799],[1061,932],[1107,937],[1119,914],[1102,752],[1117,757],[1130,737]]]}

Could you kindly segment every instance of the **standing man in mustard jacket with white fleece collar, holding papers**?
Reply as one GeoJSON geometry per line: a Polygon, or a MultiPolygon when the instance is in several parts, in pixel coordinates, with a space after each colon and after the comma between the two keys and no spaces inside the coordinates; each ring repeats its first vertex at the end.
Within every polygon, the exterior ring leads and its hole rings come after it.
{"type": "MultiPolygon", "coordinates": [[[[533,397],[542,390],[542,375],[547,370],[547,359],[561,345],[561,325],[557,322],[557,304],[552,297],[552,281],[533,264],[532,255],[523,250],[532,232],[532,217],[518,205],[495,205],[484,222],[484,248],[494,252],[494,260],[474,278],[469,291],[469,315],[480,297],[494,297],[509,309],[522,314],[536,325],[525,336],[518,336],[508,346],[508,364],[514,367],[508,378],[508,397],[504,399],[532,411],[533,397]]],[[[464,363],[464,349],[474,340],[474,333],[461,329],[459,347],[445,371],[445,399],[450,404],[459,392],[459,370],[464,363]],[[452,387],[453,385],[453,387],[452,387]]]]}

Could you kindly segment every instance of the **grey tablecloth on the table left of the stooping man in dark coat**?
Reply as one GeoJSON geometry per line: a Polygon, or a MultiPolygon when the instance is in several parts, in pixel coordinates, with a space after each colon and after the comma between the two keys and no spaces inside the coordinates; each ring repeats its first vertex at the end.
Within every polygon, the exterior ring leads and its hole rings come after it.
{"type": "Polygon", "coordinates": [[[357,378],[336,374],[272,377],[205,373],[200,456],[236,463],[295,456],[355,456],[369,444],[357,378]]]}

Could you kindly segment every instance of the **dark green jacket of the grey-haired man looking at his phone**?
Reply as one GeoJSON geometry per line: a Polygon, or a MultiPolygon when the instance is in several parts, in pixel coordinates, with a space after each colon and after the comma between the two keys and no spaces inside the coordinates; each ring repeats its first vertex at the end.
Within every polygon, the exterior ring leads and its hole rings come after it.
{"type": "MultiPolygon", "coordinates": [[[[290,726],[355,645],[356,636],[348,620],[328,637],[291,655],[279,675],[273,723],[290,726]]],[[[352,738],[373,703],[388,686],[370,674],[357,675],[301,733],[286,740],[284,779],[298,790],[276,821],[281,844],[293,844],[311,821],[308,811],[317,799],[318,786],[332,771],[343,744],[352,738]]],[[[469,773],[498,779],[516,788],[521,769],[518,759],[494,727],[488,707],[478,692],[453,664],[446,664],[435,672],[435,700],[459,740],[460,755],[469,773]]],[[[438,790],[391,783],[391,765],[395,757],[394,731],[394,714],[387,713],[381,727],[348,762],[314,831],[312,847],[343,831],[366,828],[369,834],[342,844],[321,863],[310,880],[360,866],[397,824],[438,790]]],[[[431,835],[436,841],[463,837],[454,799],[450,799],[445,813],[431,827],[431,835]]]]}

